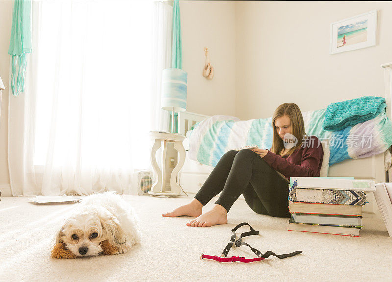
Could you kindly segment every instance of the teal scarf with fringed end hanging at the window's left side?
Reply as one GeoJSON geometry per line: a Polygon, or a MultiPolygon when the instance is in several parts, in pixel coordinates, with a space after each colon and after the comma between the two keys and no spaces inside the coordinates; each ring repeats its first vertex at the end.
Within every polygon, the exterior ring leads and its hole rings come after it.
{"type": "Polygon", "coordinates": [[[31,0],[15,0],[12,13],[11,40],[8,49],[8,54],[12,58],[12,95],[18,96],[25,91],[26,54],[31,52],[31,0]]]}

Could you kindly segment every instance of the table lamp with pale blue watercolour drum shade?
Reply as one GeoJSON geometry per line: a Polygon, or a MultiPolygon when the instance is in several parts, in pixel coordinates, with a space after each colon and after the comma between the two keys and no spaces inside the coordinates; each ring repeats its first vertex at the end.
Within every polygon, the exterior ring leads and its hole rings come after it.
{"type": "Polygon", "coordinates": [[[172,68],[162,71],[161,108],[173,112],[172,133],[174,133],[174,112],[186,110],[187,77],[187,72],[181,69],[172,68]]]}

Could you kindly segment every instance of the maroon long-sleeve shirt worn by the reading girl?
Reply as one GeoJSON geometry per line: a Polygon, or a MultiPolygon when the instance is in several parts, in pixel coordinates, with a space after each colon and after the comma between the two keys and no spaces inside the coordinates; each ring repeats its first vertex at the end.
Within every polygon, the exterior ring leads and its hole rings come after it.
{"type": "Polygon", "coordinates": [[[288,179],[292,176],[320,176],[324,151],[316,136],[310,138],[313,142],[302,144],[290,156],[274,154],[267,149],[263,160],[288,179]]]}

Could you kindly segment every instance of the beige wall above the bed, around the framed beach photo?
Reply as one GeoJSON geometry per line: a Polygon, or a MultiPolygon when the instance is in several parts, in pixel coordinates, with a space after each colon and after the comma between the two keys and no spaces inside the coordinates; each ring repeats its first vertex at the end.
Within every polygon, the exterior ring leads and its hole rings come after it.
{"type": "Polygon", "coordinates": [[[272,116],[361,96],[384,96],[381,64],[392,61],[391,2],[236,3],[236,116],[272,116]],[[377,45],[329,54],[330,24],[378,10],[377,45]]]}

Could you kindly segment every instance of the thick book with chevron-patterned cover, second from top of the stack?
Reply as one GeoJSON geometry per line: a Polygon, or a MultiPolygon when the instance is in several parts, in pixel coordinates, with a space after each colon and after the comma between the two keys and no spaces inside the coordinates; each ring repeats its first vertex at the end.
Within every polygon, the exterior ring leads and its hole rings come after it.
{"type": "Polygon", "coordinates": [[[289,187],[288,199],[293,202],[365,205],[366,194],[362,191],[305,189],[289,187]]]}

